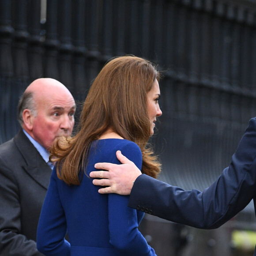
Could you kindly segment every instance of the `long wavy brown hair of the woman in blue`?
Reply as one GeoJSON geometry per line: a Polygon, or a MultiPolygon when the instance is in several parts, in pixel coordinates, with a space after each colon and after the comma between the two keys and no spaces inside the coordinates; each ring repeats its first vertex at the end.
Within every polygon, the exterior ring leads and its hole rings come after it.
{"type": "Polygon", "coordinates": [[[73,138],[60,137],[51,149],[50,159],[58,161],[61,180],[80,184],[78,174],[81,167],[87,166],[91,142],[109,128],[135,142],[142,151],[142,173],[157,176],[161,164],[147,144],[151,128],[147,92],[159,77],[150,61],[136,56],[116,57],[105,64],[84,102],[79,132],[73,138]]]}

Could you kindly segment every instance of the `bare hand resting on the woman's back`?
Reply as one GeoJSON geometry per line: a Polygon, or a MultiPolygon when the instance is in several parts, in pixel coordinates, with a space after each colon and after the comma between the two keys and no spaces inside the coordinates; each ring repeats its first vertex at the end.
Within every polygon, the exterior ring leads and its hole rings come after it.
{"type": "Polygon", "coordinates": [[[112,163],[97,163],[96,169],[104,169],[107,171],[94,171],[90,173],[92,178],[101,178],[101,180],[93,180],[94,185],[108,186],[98,190],[101,194],[117,193],[120,195],[130,195],[133,181],[141,175],[141,171],[137,166],[117,151],[117,159],[122,165],[112,163]]]}

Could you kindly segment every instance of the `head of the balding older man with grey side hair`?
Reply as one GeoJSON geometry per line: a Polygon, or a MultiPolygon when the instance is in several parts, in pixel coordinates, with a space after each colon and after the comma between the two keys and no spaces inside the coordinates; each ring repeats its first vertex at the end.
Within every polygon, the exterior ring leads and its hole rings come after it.
{"type": "Polygon", "coordinates": [[[68,88],[55,79],[40,78],[32,82],[18,109],[23,129],[46,149],[56,137],[72,133],[75,100],[68,88]]]}

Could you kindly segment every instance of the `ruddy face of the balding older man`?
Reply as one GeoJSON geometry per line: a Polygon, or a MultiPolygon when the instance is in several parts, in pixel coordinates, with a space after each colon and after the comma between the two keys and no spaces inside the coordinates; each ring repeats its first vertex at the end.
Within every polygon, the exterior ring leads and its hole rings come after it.
{"type": "Polygon", "coordinates": [[[59,136],[71,136],[74,127],[75,101],[66,90],[35,97],[37,115],[32,116],[31,136],[45,149],[59,136]]]}

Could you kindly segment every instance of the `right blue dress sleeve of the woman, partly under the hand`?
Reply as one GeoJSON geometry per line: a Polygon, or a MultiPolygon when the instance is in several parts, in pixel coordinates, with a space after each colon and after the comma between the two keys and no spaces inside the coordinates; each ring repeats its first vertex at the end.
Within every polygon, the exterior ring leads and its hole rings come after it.
{"type": "MultiPolygon", "coordinates": [[[[120,149],[141,169],[142,153],[136,144],[129,144],[120,149]]],[[[113,163],[120,164],[115,159],[113,163]]],[[[129,196],[109,194],[109,233],[110,243],[124,256],[154,256],[143,235],[138,230],[137,211],[128,207],[129,196]]]]}

